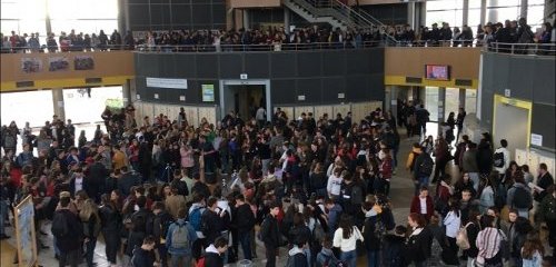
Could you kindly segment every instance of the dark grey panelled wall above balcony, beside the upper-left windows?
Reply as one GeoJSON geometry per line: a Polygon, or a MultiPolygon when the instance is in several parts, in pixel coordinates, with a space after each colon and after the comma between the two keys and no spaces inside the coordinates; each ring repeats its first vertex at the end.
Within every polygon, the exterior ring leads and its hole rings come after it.
{"type": "Polygon", "coordinates": [[[226,29],[225,0],[128,0],[132,31],[226,29]]]}

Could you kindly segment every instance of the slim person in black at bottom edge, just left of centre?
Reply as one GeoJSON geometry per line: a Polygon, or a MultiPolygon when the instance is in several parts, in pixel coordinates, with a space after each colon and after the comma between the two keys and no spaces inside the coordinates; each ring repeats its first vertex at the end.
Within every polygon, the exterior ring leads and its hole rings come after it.
{"type": "Polygon", "coordinates": [[[265,243],[266,249],[266,267],[276,266],[276,253],[278,250],[278,246],[280,245],[280,231],[278,228],[278,220],[276,219],[279,212],[280,205],[278,202],[271,204],[270,212],[262,221],[260,228],[260,237],[262,239],[262,243],[265,243]]]}

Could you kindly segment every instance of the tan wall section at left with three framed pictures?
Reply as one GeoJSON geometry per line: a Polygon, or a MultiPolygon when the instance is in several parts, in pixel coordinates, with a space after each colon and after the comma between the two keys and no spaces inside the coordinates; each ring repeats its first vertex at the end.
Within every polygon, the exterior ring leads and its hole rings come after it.
{"type": "Polygon", "coordinates": [[[29,90],[43,88],[67,88],[83,86],[122,85],[135,75],[133,55],[130,51],[111,52],[64,52],[64,53],[2,53],[0,90],[29,90]],[[75,59],[90,57],[93,68],[76,70],[75,59]],[[68,68],[50,71],[50,61],[63,59],[68,68]],[[22,62],[40,61],[41,68],[36,72],[26,72],[22,62]],[[88,83],[87,78],[102,78],[100,82],[88,83]],[[18,86],[17,82],[33,81],[30,86],[18,86]]]}

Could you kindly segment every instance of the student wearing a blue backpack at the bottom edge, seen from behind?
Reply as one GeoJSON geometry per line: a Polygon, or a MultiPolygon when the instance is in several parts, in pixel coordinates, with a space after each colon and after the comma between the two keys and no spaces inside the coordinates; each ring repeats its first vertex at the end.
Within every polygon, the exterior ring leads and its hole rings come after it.
{"type": "Polygon", "coordinates": [[[189,222],[186,221],[187,211],[185,208],[178,210],[178,219],[168,227],[166,235],[166,247],[171,257],[171,266],[191,266],[191,248],[197,240],[197,233],[189,222]]]}

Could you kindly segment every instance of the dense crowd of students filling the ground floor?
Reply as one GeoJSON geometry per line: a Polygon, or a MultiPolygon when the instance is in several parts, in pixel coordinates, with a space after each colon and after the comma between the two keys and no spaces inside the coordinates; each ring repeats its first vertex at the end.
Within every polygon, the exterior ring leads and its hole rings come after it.
{"type": "Polygon", "coordinates": [[[31,196],[38,247],[47,248],[41,226],[51,221],[60,267],[95,266],[99,236],[112,266],[265,258],[274,267],[280,256],[287,266],[355,267],[364,255],[368,266],[552,266],[542,241],[556,247],[547,166],[535,177],[512,160],[506,140],[498,147],[487,132],[478,144],[463,135],[453,151],[446,138],[456,136],[454,116],[433,140],[425,138],[428,111],[413,101],[403,110],[354,121],[350,112],[289,119],[277,109],[266,121],[261,107],[245,120],[230,111],[216,125],[192,126],[183,110],[136,121],[129,105],[107,108],[106,131],[98,126],[92,140],[81,132],[77,145],[71,121],[54,117],[38,136],[11,122],[1,128],[0,234],[9,238],[10,209],[31,196]],[[408,138],[425,139],[413,144],[405,166],[398,122],[408,138]],[[395,221],[390,201],[400,168],[415,184],[407,225],[395,221]]]}

